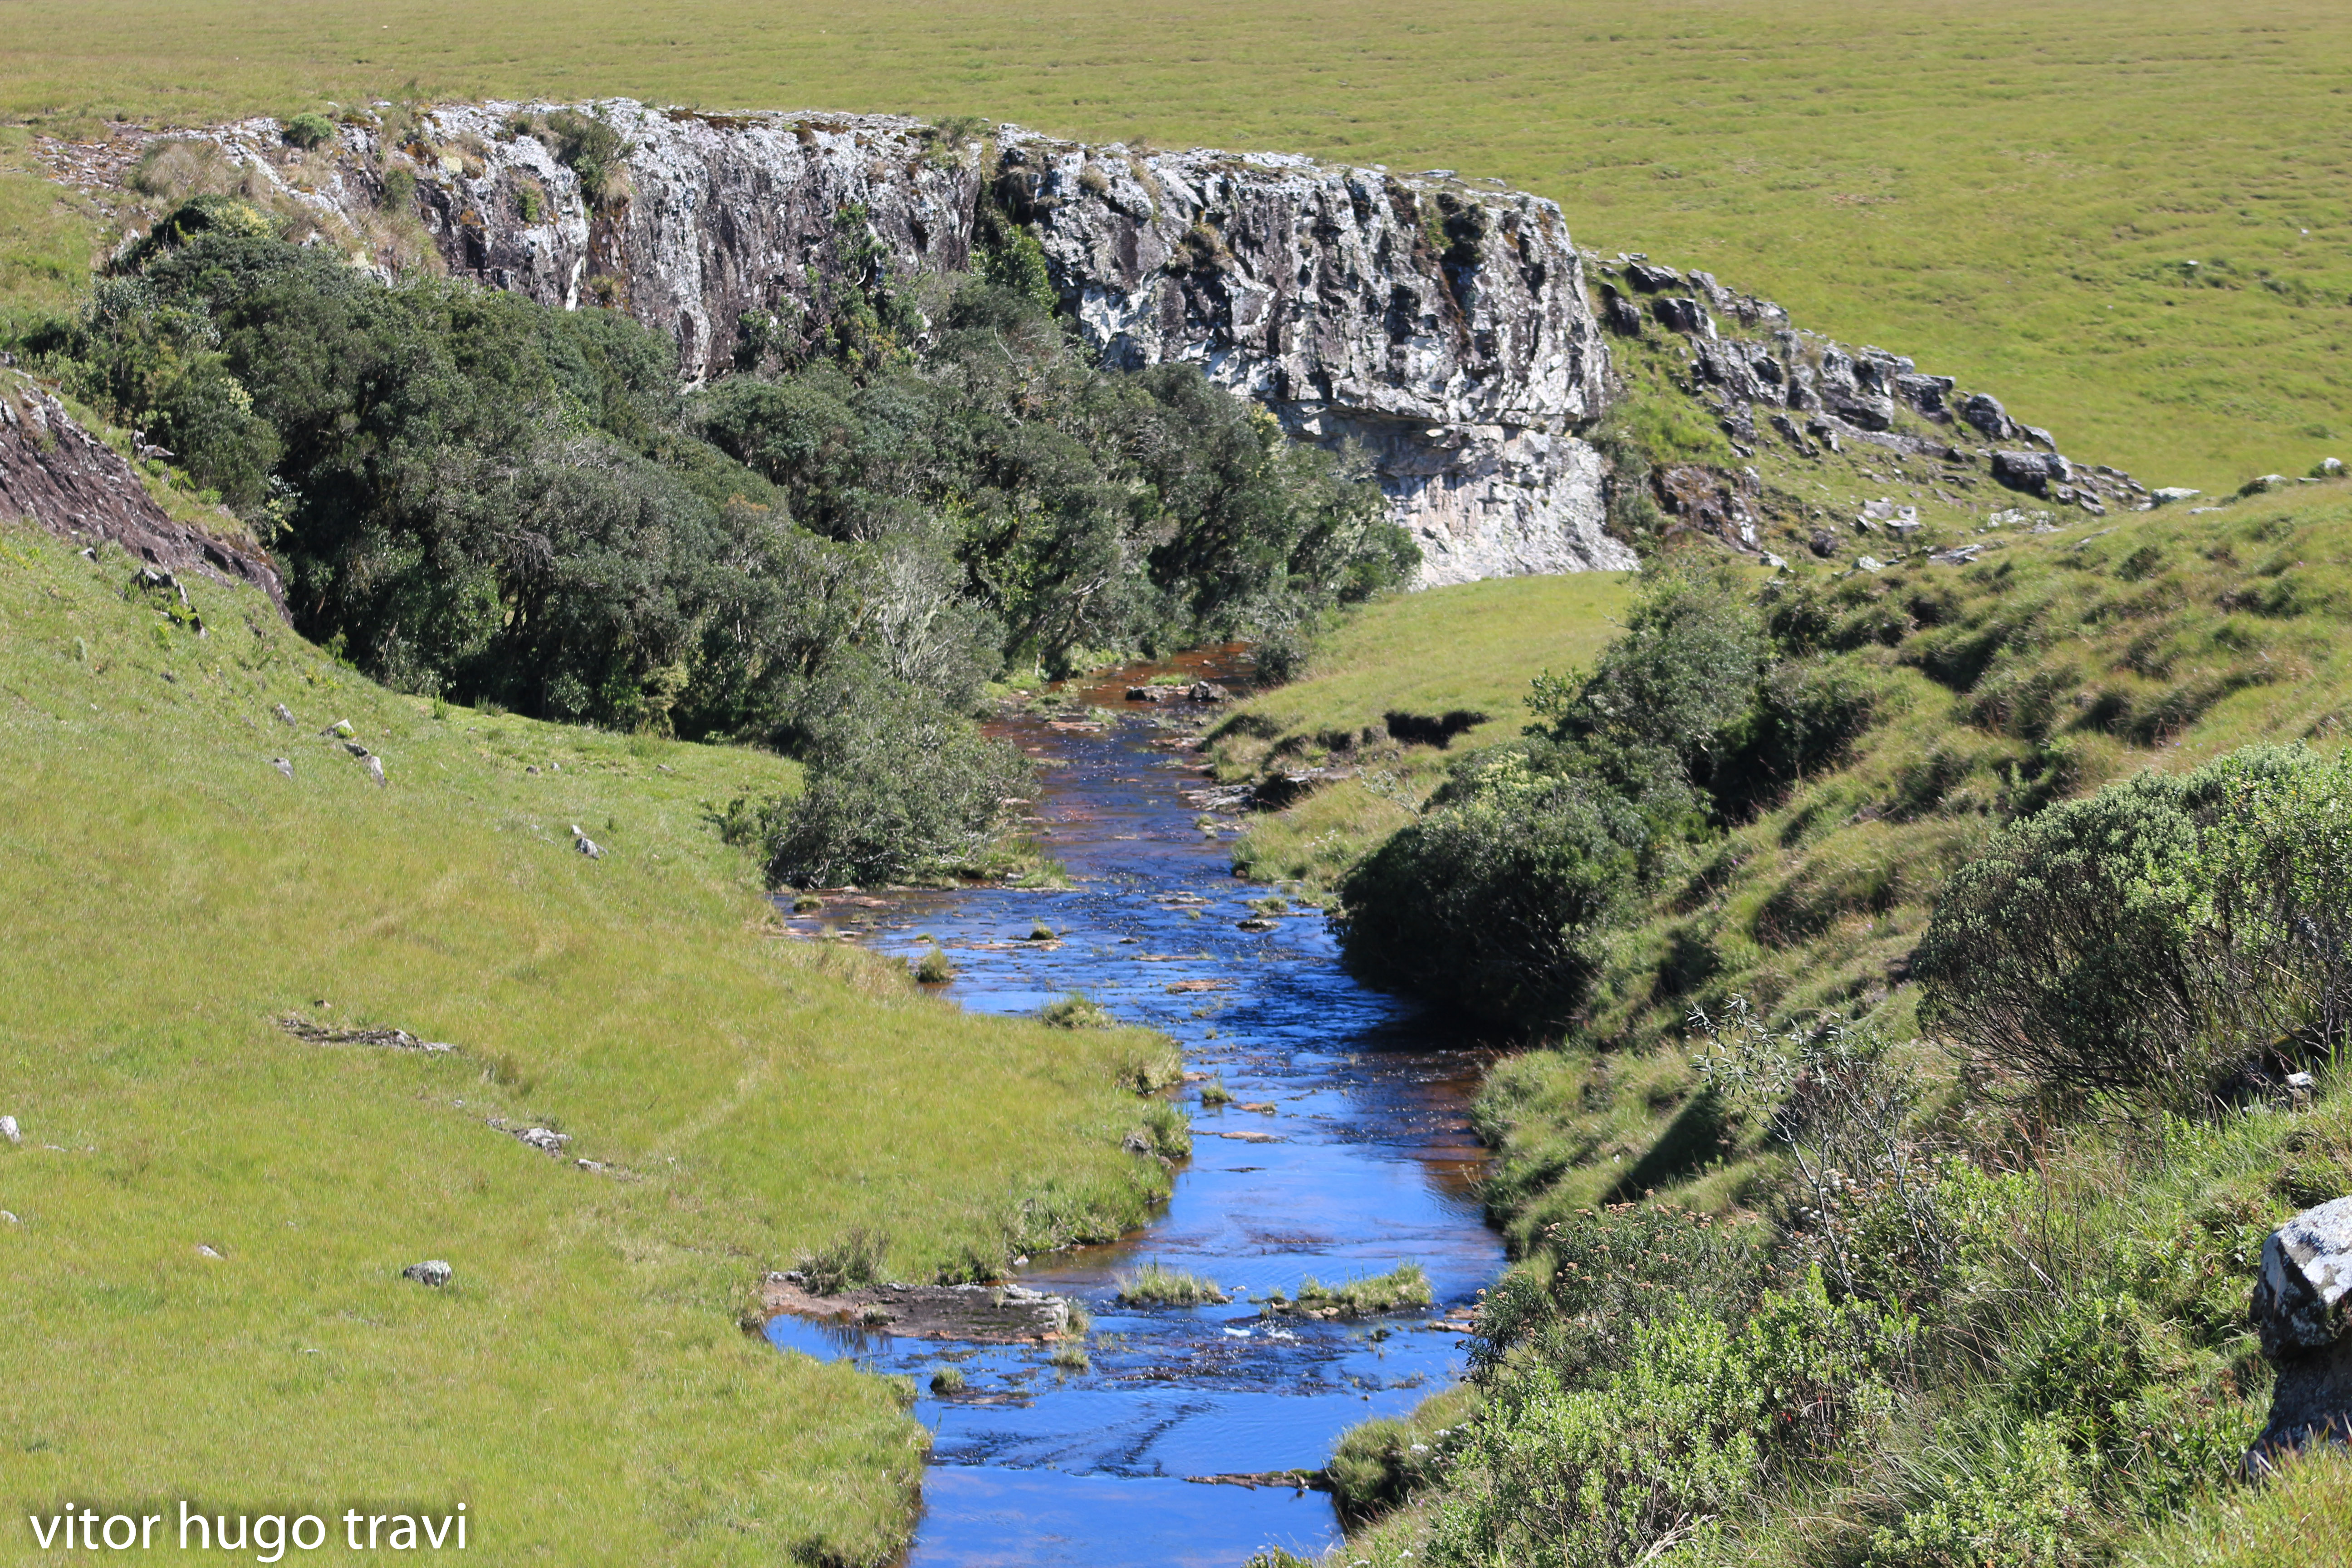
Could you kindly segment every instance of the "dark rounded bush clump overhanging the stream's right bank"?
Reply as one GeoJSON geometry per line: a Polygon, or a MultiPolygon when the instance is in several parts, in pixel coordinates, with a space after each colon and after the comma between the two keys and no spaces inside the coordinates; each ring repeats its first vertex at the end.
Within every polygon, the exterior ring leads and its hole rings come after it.
{"type": "Polygon", "coordinates": [[[1778,646],[1748,585],[1658,571],[1578,679],[1541,677],[1515,748],[1463,759],[1341,882],[1348,966],[1517,1027],[1576,1013],[1677,849],[1832,759],[1865,693],[1778,646]]]}

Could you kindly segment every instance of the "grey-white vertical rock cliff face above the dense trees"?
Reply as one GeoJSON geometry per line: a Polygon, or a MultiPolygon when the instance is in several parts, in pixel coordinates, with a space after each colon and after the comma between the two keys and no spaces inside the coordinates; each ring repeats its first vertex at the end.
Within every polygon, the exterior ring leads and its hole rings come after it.
{"type": "Polygon", "coordinates": [[[612,134],[597,160],[548,129],[562,113],[440,108],[397,146],[346,127],[334,160],[292,160],[268,120],[212,136],[358,235],[381,237],[388,193],[414,200],[452,273],[623,308],[677,339],[689,381],[811,336],[875,266],[908,287],[964,270],[1000,202],[1105,357],[1190,360],[1298,437],[1359,442],[1425,583],[1635,564],[1602,534],[1602,463],[1578,435],[1606,348],[1552,202],[1287,155],[630,101],[593,108],[612,134]]]}

